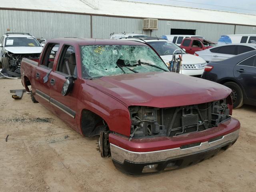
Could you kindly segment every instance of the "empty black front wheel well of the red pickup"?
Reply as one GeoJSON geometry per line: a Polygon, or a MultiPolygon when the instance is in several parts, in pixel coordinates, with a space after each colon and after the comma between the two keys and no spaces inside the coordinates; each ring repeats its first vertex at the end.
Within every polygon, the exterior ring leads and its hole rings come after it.
{"type": "Polygon", "coordinates": [[[106,121],[90,110],[82,110],[81,128],[84,136],[93,137],[108,130],[106,121]]]}

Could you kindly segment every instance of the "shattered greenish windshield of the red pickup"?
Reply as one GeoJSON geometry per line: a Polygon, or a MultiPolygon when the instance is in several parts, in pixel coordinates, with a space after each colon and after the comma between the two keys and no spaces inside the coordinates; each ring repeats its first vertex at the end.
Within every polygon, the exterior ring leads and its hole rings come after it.
{"type": "Polygon", "coordinates": [[[148,46],[86,45],[81,47],[81,57],[83,78],[168,71],[148,46]]]}

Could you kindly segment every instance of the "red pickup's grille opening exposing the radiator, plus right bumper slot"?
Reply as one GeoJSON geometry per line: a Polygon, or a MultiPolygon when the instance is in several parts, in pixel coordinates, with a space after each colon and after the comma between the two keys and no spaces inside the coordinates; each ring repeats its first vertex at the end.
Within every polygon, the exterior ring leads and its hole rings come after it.
{"type": "MultiPolygon", "coordinates": [[[[160,122],[169,137],[207,130],[230,118],[226,99],[214,102],[160,109],[160,122]]],[[[221,139],[216,137],[209,142],[221,139]]]]}

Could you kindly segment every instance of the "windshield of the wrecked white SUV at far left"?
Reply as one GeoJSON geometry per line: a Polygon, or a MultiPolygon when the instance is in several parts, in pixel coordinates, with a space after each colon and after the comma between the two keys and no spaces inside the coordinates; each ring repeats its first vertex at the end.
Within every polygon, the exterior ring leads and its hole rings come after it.
{"type": "Polygon", "coordinates": [[[41,45],[33,37],[7,37],[6,47],[40,47],[41,45]]]}

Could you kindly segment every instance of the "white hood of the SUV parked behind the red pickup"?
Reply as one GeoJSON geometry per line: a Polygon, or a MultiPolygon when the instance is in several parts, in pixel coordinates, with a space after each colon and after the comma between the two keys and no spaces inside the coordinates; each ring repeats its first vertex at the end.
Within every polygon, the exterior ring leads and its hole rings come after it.
{"type": "MultiPolygon", "coordinates": [[[[178,56],[178,55],[176,55],[178,56]]],[[[164,62],[169,62],[172,60],[172,55],[162,55],[160,56],[164,62]]],[[[182,64],[188,65],[188,64],[202,64],[205,63],[205,60],[201,57],[191,55],[191,54],[183,54],[182,55],[182,64]]]]}

